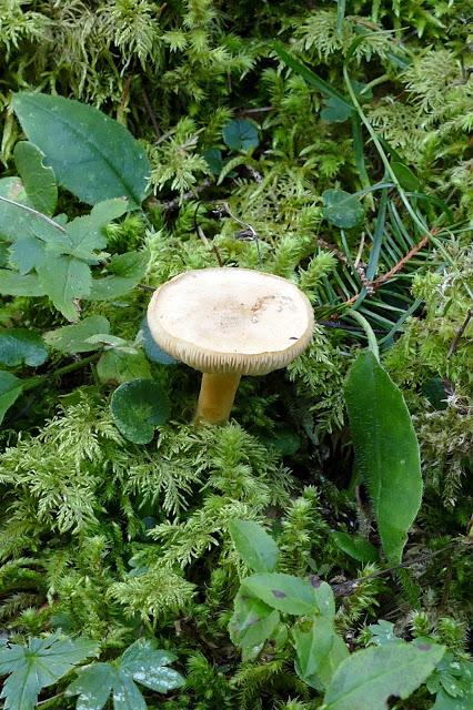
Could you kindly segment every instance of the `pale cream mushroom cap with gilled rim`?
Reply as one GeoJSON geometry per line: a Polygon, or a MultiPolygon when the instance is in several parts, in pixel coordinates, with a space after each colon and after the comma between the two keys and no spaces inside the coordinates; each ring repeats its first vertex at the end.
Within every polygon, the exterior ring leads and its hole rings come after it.
{"type": "Polygon", "coordinates": [[[194,369],[264,375],[302,353],[314,317],[285,278],[223,267],[188,271],[160,286],[148,324],[163,351],[194,369]]]}

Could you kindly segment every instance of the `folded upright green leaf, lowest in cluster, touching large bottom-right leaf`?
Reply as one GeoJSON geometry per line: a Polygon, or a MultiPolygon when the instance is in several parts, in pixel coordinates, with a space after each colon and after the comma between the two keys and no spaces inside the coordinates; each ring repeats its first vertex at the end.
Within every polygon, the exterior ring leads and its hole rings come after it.
{"type": "Polygon", "coordinates": [[[333,618],[308,619],[296,625],[292,635],[298,676],[311,688],[324,691],[340,663],[349,657],[343,639],[335,631],[333,618]]]}

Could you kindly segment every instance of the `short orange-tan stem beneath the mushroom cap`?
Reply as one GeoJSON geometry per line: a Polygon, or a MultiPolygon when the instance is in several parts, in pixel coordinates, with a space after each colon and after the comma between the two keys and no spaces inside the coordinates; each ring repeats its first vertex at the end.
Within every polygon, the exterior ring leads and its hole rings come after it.
{"type": "Polygon", "coordinates": [[[222,424],[227,422],[233,406],[241,375],[203,373],[195,422],[222,424]]]}

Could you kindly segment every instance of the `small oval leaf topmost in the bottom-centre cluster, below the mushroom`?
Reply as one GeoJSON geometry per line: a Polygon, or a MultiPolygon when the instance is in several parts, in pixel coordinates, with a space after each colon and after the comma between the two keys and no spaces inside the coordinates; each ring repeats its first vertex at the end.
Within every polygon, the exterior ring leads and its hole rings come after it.
{"type": "Polygon", "coordinates": [[[278,562],[278,545],[261,525],[252,520],[232,520],[229,531],[238,554],[252,571],[273,571],[278,562]]]}

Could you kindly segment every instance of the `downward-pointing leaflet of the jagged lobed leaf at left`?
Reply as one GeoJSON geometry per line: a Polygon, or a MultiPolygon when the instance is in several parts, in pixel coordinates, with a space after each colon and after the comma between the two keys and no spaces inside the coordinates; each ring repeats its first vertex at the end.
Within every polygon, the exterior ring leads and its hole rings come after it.
{"type": "Polygon", "coordinates": [[[89,295],[92,276],[85,262],[63,254],[48,254],[38,276],[53,305],[68,321],[78,321],[79,298],[89,295]]]}

